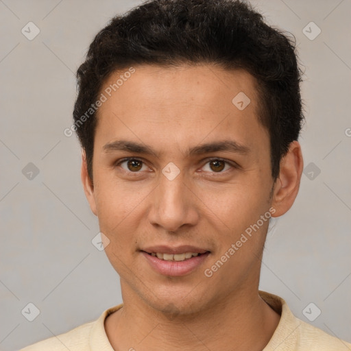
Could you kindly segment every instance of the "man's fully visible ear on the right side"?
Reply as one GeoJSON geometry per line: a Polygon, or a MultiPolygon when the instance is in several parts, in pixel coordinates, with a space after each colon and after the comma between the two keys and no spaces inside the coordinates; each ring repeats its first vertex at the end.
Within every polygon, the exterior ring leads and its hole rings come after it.
{"type": "Polygon", "coordinates": [[[293,141],[287,154],[280,160],[280,172],[274,184],[272,205],[276,212],[272,217],[279,217],[287,213],[293,206],[300,188],[300,180],[304,169],[301,146],[293,141]]]}

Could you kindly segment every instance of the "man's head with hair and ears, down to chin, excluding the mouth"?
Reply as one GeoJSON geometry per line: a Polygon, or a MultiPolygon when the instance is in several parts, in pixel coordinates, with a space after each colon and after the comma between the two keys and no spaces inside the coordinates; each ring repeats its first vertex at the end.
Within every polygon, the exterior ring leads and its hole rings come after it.
{"type": "Polygon", "coordinates": [[[73,117],[84,191],[129,295],[189,313],[258,284],[269,218],[300,184],[300,73],[293,41],[241,1],[146,1],[97,34],[73,117]],[[167,276],[145,261],[154,245],[209,254],[167,276]]]}

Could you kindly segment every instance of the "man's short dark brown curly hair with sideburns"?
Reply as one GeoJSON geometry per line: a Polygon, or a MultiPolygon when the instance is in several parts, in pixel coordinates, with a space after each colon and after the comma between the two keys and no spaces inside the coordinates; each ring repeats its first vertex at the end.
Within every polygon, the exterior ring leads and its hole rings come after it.
{"type": "Polygon", "coordinates": [[[280,160],[298,140],[304,119],[295,37],[267,25],[248,3],[233,0],[145,1],[112,18],[95,36],[77,70],[72,125],[86,153],[90,180],[98,110],[92,106],[111,73],[141,64],[202,63],[245,69],[256,79],[258,120],[269,131],[276,180],[280,160]]]}

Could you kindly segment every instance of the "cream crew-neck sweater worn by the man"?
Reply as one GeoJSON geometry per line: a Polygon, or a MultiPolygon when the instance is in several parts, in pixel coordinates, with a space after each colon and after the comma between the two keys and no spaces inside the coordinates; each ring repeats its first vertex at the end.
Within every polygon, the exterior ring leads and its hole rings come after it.
{"type": "MultiPolygon", "coordinates": [[[[265,291],[259,293],[261,298],[281,315],[278,327],[263,351],[351,350],[351,343],[332,337],[295,317],[285,300],[279,296],[265,291]]],[[[108,308],[94,322],[82,324],[69,332],[34,343],[20,351],[114,351],[106,336],[104,320],[122,306],[123,304],[119,304],[108,308]]]]}

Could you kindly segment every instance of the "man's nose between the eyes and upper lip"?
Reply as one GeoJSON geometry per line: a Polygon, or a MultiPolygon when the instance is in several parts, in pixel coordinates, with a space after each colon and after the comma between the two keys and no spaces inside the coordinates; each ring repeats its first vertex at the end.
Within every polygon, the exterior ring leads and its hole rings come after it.
{"type": "Polygon", "coordinates": [[[185,184],[182,172],[173,180],[161,174],[150,201],[150,223],[169,232],[177,232],[185,225],[195,226],[199,220],[197,206],[200,200],[195,191],[185,184]]]}

